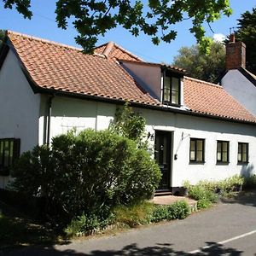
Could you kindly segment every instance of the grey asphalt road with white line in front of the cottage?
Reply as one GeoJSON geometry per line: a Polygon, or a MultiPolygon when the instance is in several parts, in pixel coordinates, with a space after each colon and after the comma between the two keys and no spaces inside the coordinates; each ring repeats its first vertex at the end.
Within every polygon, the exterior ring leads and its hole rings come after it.
{"type": "Polygon", "coordinates": [[[256,255],[256,191],[184,220],[0,255],[256,255]]]}

